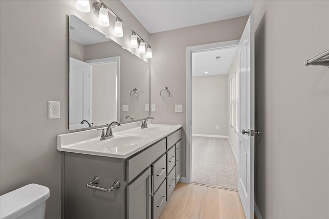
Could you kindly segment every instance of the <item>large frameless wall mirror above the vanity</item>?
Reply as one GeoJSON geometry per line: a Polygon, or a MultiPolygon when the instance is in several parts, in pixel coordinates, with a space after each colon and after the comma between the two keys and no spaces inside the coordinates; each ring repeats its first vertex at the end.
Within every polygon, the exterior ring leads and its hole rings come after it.
{"type": "Polygon", "coordinates": [[[69,66],[69,130],[150,115],[149,64],[71,13],[69,66]]]}

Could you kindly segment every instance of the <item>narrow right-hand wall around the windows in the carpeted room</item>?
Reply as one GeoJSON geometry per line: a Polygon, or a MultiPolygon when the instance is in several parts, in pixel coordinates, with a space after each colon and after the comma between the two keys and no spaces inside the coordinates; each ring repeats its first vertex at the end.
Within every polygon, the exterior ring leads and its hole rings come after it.
{"type": "MultiPolygon", "coordinates": [[[[229,70],[229,73],[228,73],[228,77],[227,77],[227,89],[228,89],[228,95],[230,95],[230,84],[231,84],[231,78],[233,77],[233,92],[235,92],[235,72],[236,72],[236,69],[238,68],[239,66],[239,55],[238,55],[238,51],[236,51],[235,53],[235,56],[234,56],[234,59],[232,61],[232,65],[231,65],[231,68],[229,70]]],[[[228,114],[230,115],[231,114],[231,102],[230,102],[230,98],[228,98],[228,114]]],[[[233,106],[234,107],[234,106],[233,106]]],[[[228,138],[230,140],[230,143],[232,145],[232,148],[233,148],[233,151],[234,151],[234,154],[236,157],[239,157],[239,148],[238,148],[238,144],[239,144],[239,138],[237,136],[237,133],[235,131],[236,129],[236,117],[235,117],[235,114],[236,113],[234,110],[233,110],[233,128],[231,127],[231,122],[230,122],[230,118],[228,118],[228,125],[227,125],[227,133],[228,133],[228,138]]],[[[236,158],[235,157],[235,158],[236,158]]]]}

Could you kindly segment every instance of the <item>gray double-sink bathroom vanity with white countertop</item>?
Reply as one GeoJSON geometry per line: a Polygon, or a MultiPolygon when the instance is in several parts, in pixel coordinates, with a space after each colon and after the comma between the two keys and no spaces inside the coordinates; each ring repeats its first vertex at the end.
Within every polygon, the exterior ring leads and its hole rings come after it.
{"type": "Polygon", "coordinates": [[[158,218],[181,175],[181,126],[140,123],[58,135],[64,151],[65,218],[158,218]],[[120,188],[103,192],[86,187],[120,188]]]}

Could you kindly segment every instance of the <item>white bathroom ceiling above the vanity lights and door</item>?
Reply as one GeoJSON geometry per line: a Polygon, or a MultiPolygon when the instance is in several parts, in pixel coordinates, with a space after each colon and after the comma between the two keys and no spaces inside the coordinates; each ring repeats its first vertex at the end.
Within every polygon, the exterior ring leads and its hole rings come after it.
{"type": "Polygon", "coordinates": [[[149,31],[157,33],[249,15],[253,0],[121,0],[149,31]]]}

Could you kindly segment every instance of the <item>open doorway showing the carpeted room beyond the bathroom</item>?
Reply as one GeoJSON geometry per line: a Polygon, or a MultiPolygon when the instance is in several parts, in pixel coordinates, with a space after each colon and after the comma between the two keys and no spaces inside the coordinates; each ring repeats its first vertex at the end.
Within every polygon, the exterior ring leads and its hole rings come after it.
{"type": "Polygon", "coordinates": [[[237,147],[231,145],[237,142],[231,92],[237,59],[235,43],[191,53],[191,183],[237,191],[237,147]]]}

